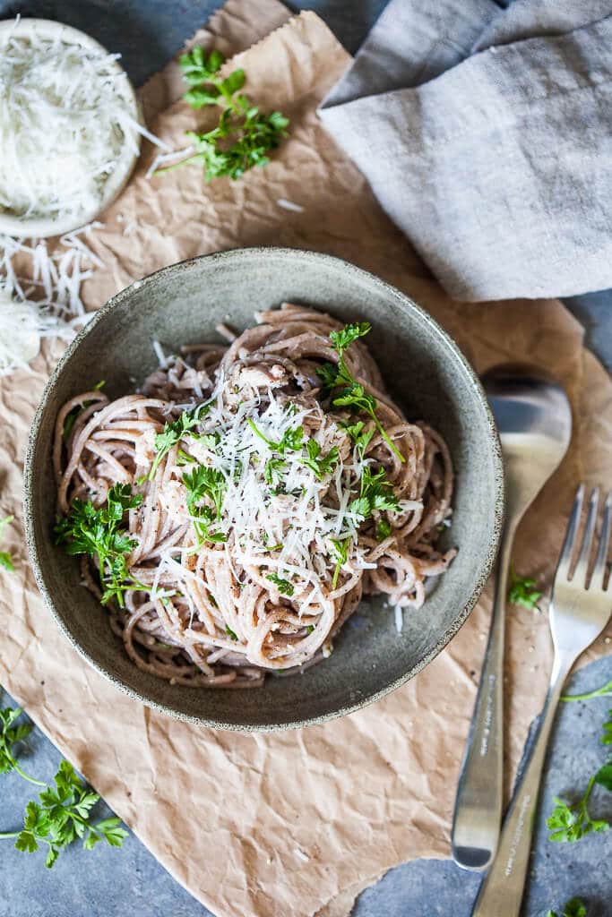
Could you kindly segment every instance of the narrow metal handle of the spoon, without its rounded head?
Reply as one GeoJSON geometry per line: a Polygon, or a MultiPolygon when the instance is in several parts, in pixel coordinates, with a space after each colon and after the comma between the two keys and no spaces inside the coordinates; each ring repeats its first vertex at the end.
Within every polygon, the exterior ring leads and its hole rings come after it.
{"type": "Polygon", "coordinates": [[[489,866],[499,839],[504,793],[504,632],[514,525],[504,531],[483,670],[463,756],[452,819],[452,858],[463,869],[489,866]]]}

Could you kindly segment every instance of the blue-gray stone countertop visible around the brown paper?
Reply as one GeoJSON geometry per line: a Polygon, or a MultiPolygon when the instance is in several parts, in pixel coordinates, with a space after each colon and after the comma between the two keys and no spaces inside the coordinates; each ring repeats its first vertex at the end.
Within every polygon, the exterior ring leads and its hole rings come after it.
{"type": "MultiPolygon", "coordinates": [[[[256,3],[257,0],[252,0],[256,3]]],[[[289,2],[313,9],[344,46],[354,53],[386,0],[311,0],[289,2]]],[[[500,2],[500,6],[505,6],[500,2]]],[[[110,50],[120,51],[132,81],[139,85],[181,48],[202,26],[220,0],[0,0],[0,18],[35,16],[82,28],[110,50]]],[[[612,291],[588,293],[566,304],[586,329],[588,346],[612,370],[612,291]]],[[[612,657],[580,671],[568,689],[582,693],[612,678],[612,657]]],[[[3,694],[0,705],[12,705],[3,694]]],[[[578,844],[547,840],[545,818],[551,797],[577,798],[606,757],[599,743],[609,698],[563,704],[553,736],[541,790],[541,812],[524,917],[545,917],[549,908],[579,896],[588,917],[612,917],[612,831],[591,835],[578,844]]],[[[24,768],[39,779],[52,779],[60,755],[35,729],[24,753],[24,768]]],[[[14,830],[34,788],[16,774],[0,776],[0,824],[14,830]]],[[[612,821],[612,795],[596,789],[594,817],[612,821]]],[[[109,812],[99,803],[96,814],[109,812]]],[[[122,850],[98,845],[84,852],[72,845],[51,871],[44,854],[19,853],[3,841],[0,856],[0,917],[208,917],[209,911],[182,889],[149,851],[130,834],[122,850]]],[[[450,860],[417,860],[388,872],[357,900],[352,917],[469,917],[479,877],[450,860]]],[[[219,915],[221,917],[221,915],[219,915]]]]}

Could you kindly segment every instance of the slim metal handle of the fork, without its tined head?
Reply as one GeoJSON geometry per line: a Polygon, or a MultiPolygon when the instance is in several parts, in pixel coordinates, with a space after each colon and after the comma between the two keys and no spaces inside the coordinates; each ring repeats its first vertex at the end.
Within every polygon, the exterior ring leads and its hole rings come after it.
{"type": "Polygon", "coordinates": [[[538,732],[506,814],[497,856],[484,878],[472,917],[518,917],[520,912],[546,749],[563,683],[573,661],[574,657],[555,655],[538,732]]]}

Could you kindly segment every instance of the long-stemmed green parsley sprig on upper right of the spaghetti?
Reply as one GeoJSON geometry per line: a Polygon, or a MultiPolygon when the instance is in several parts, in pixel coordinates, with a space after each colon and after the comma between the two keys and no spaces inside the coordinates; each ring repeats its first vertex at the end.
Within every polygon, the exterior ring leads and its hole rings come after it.
{"type": "MultiPolygon", "coordinates": [[[[365,391],[363,386],[358,381],[353,379],[344,359],[344,354],[348,348],[351,347],[351,344],[359,337],[363,337],[364,335],[369,334],[371,330],[372,326],[370,325],[370,322],[358,322],[357,324],[353,325],[345,325],[339,331],[329,332],[329,340],[331,342],[331,346],[334,348],[334,350],[336,350],[338,354],[338,364],[324,364],[317,369],[317,375],[320,377],[320,379],[322,379],[324,387],[330,392],[333,389],[340,390],[332,399],[332,404],[334,407],[350,407],[351,410],[355,413],[362,411],[363,414],[368,414],[368,416],[373,419],[373,422],[376,425],[376,429],[380,435],[383,436],[387,446],[395,453],[397,458],[403,462],[406,459],[398,450],[398,448],[395,447],[395,444],[386,433],[384,426],[381,424],[378,416],[376,415],[378,402],[373,395],[368,394],[365,391]]],[[[371,438],[372,435],[368,438],[368,442],[371,438]]],[[[363,447],[363,451],[364,449],[365,447],[363,447]]]]}

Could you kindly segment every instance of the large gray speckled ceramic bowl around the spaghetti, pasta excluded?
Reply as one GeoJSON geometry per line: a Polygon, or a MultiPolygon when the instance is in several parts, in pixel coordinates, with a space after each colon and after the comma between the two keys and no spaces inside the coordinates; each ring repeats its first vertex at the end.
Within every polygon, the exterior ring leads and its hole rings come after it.
{"type": "Polygon", "coordinates": [[[163,713],[225,729],[284,729],[320,723],[381,698],[426,666],[457,633],[495,559],[503,470],[493,417],[461,352],[430,316],[393,287],[344,261],[293,249],[241,249],[164,268],[118,293],[76,338],[47,386],[26,459],[26,520],[32,566],[51,613],[72,645],[122,691],[163,713]],[[74,558],[53,547],[51,442],[68,398],[106,380],[112,398],[134,391],[157,365],[151,341],[172,352],[242,328],[283,300],[367,318],[368,345],[408,417],[446,437],[457,472],[449,543],[459,547],[425,606],[404,630],[382,601],[364,601],[331,657],[303,675],[267,679],[261,690],[172,686],[139,671],[110,630],[105,610],[79,585],[74,558]]]}

